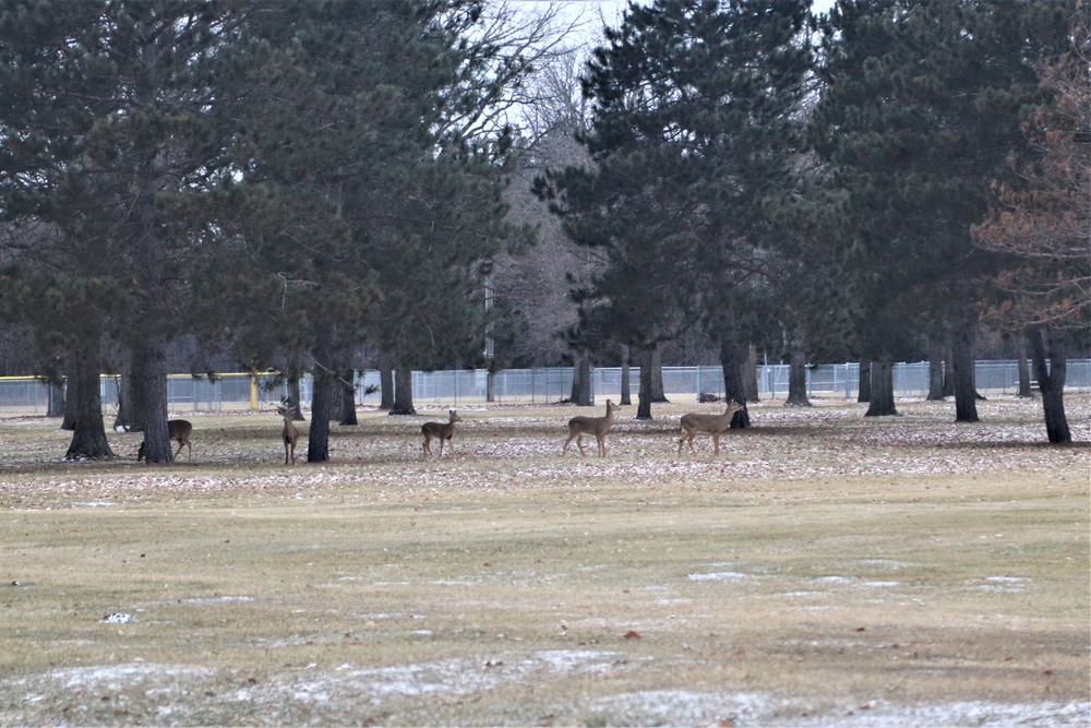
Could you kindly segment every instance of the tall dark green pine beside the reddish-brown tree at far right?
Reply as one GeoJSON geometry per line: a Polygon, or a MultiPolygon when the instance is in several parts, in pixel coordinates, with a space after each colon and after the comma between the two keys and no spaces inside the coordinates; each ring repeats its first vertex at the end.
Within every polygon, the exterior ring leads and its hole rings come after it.
{"type": "Polygon", "coordinates": [[[1064,40],[1066,4],[842,0],[823,23],[812,140],[847,200],[831,252],[848,252],[863,354],[892,360],[925,323],[949,323],[959,421],[978,419],[975,302],[996,272],[970,227],[1026,148],[1034,64],[1064,40]]]}

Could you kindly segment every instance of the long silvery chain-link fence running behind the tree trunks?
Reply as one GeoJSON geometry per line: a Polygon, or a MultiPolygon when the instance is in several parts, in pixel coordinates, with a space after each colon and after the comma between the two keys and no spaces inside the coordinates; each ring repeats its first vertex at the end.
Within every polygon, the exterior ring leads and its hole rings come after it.
{"type": "MultiPolygon", "coordinates": [[[[1019,386],[1016,361],[978,361],[978,391],[1014,394],[1019,386]]],[[[758,393],[763,398],[788,394],[788,365],[762,365],[757,368],[758,393]]],[[[632,393],[636,395],[640,370],[630,372],[632,393]]],[[[412,372],[413,401],[420,404],[485,401],[488,372],[478,370],[412,372]]],[[[807,392],[816,397],[855,398],[860,381],[856,363],[819,365],[807,369],[807,392]]],[[[379,384],[379,372],[364,370],[357,374],[357,402],[369,403],[364,387],[379,384]]],[[[899,397],[923,397],[928,392],[928,362],[897,363],[894,368],[895,394],[899,397]]],[[[1091,359],[1068,362],[1067,392],[1091,391],[1091,359]]],[[[663,367],[663,391],[668,396],[697,396],[700,393],[722,395],[723,374],[720,367],[663,367]]],[[[598,397],[621,394],[621,369],[600,367],[591,370],[591,392],[598,397]]],[[[310,402],[311,380],[300,382],[303,402],[310,402]]],[[[549,404],[568,398],[572,393],[572,368],[506,369],[493,374],[493,394],[497,402],[549,404]]],[[[117,377],[101,379],[103,407],[106,411],[118,402],[117,377]]],[[[172,413],[223,411],[271,408],[287,396],[283,381],[274,375],[251,378],[249,374],[223,374],[215,379],[172,374],[167,378],[167,401],[172,413]]],[[[379,395],[369,395],[377,403],[379,395]]],[[[13,414],[44,415],[48,410],[49,387],[33,377],[0,378],[0,410],[13,414]]]]}

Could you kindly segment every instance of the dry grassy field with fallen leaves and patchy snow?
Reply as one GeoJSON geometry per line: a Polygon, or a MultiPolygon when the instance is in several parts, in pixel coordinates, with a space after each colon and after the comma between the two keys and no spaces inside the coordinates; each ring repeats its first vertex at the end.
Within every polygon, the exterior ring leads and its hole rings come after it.
{"type": "Polygon", "coordinates": [[[1040,407],[767,402],[717,460],[675,451],[718,405],[603,460],[560,457],[601,406],[464,409],[431,461],[445,409],[369,410],[295,468],[273,414],[167,466],[0,420],[0,725],[1086,726],[1091,397],[1072,446],[1040,407]]]}

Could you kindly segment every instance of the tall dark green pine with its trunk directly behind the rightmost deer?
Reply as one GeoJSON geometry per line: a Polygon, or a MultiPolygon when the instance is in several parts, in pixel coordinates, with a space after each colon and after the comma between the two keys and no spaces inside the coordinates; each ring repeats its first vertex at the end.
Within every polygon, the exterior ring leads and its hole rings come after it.
{"type": "MultiPolygon", "coordinates": [[[[585,81],[595,107],[582,141],[594,167],[552,172],[538,187],[568,235],[608,260],[576,293],[584,335],[648,353],[704,320],[738,399],[743,251],[767,241],[769,208],[788,187],[808,7],[631,5],[585,81]]],[[[650,416],[642,395],[637,417],[650,416]]]]}

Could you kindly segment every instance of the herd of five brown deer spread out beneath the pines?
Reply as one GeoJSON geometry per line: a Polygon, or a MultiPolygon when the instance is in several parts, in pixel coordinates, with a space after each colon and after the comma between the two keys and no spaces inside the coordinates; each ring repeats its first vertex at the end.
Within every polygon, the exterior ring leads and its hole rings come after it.
{"type": "MultiPolygon", "coordinates": [[[[693,447],[694,435],[700,432],[708,433],[712,435],[712,455],[719,456],[720,454],[720,435],[727,432],[731,428],[731,420],[734,419],[735,413],[742,409],[743,406],[736,402],[728,402],[728,407],[722,415],[700,415],[697,413],[690,413],[688,415],[683,415],[679,425],[682,428],[682,438],[679,439],[679,452],[682,454],[682,445],[688,444],[690,452],[697,454],[697,451],[693,447]]],[[[599,447],[599,457],[606,457],[607,454],[607,432],[613,427],[614,421],[614,410],[616,407],[612,399],[607,399],[607,414],[602,417],[585,417],[583,415],[573,417],[568,420],[568,439],[564,441],[564,447],[561,449],[561,457],[564,457],[568,453],[568,445],[572,441],[576,441],[576,446],[579,447],[580,456],[584,456],[584,435],[592,435],[599,447]]],[[[292,408],[288,404],[283,404],[276,408],[277,414],[284,418],[284,429],[280,432],[280,438],[284,441],[284,464],[291,465],[296,464],[296,443],[299,441],[299,428],[296,427],[292,421],[292,408]]],[[[454,442],[452,438],[455,434],[455,422],[461,422],[463,419],[455,413],[454,409],[448,411],[448,417],[446,422],[424,422],[420,426],[421,434],[424,435],[424,442],[421,445],[423,451],[423,456],[425,458],[432,455],[432,440],[440,441],[440,452],[437,457],[443,457],[443,443],[448,443],[447,452],[454,454],[454,442]]],[[[189,447],[189,458],[193,460],[193,445],[190,444],[190,434],[193,432],[193,426],[184,419],[172,419],[167,421],[167,432],[171,440],[178,441],[178,451],[173,454],[177,457],[181,452],[182,447],[189,447]]],[[[136,462],[144,460],[144,443],[140,443],[140,450],[136,451],[136,462]]]]}

